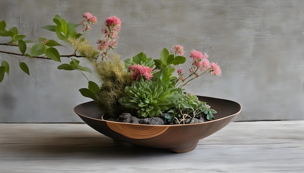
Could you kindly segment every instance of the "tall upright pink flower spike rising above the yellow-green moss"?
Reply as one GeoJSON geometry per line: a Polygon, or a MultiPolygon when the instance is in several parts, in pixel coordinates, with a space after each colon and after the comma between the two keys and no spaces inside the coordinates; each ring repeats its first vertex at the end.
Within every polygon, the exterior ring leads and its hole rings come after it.
{"type": "Polygon", "coordinates": [[[120,24],[121,21],[116,16],[111,16],[105,19],[105,25],[101,29],[101,33],[104,34],[105,39],[98,39],[97,41],[97,49],[102,51],[102,59],[107,58],[106,54],[109,49],[115,48],[118,32],[121,31],[120,24]]]}

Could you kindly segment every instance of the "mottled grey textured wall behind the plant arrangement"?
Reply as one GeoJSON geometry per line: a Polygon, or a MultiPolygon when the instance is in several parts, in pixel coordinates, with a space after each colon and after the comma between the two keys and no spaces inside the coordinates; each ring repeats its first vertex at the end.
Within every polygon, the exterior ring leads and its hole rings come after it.
{"type": "MultiPolygon", "coordinates": [[[[45,34],[55,38],[40,29],[55,14],[76,23],[84,12],[99,19],[88,35],[92,43],[106,17],[121,19],[115,51],[122,58],[142,51],[158,58],[163,47],[173,44],[183,45],[187,56],[192,49],[208,53],[221,66],[222,77],[206,75],[186,89],[239,102],[243,108],[237,121],[304,120],[303,0],[0,1],[0,21],[32,40],[45,34]]],[[[0,83],[0,122],[82,122],[73,107],[90,100],[78,91],[87,87],[80,72],[59,71],[60,63],[27,58],[28,77],[17,58],[0,54],[2,59],[11,64],[11,72],[0,83]]]]}

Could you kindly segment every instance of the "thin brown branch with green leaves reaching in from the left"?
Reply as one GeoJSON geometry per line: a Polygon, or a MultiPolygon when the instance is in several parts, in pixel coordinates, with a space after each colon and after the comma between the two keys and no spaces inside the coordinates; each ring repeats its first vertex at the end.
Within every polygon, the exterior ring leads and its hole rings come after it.
{"type": "MultiPolygon", "coordinates": [[[[71,43],[69,41],[71,39],[77,40],[83,35],[81,33],[76,32],[76,27],[79,26],[79,24],[73,24],[71,22],[68,23],[68,22],[66,22],[66,20],[62,19],[61,16],[59,16],[59,15],[55,15],[55,17],[53,18],[53,22],[56,25],[44,26],[44,27],[42,27],[42,29],[47,29],[47,30],[55,32],[56,36],[59,40],[64,41],[70,45],[71,45],[71,43]]],[[[19,33],[19,30],[16,27],[6,30],[5,21],[3,20],[0,22],[0,36],[11,38],[11,40],[9,42],[0,43],[0,45],[16,46],[19,48],[19,52],[0,50],[0,53],[12,55],[11,57],[25,56],[26,58],[42,58],[42,59],[50,59],[50,60],[54,60],[54,61],[58,61],[58,62],[61,62],[61,57],[70,58],[71,61],[69,64],[62,64],[62,65],[58,66],[57,68],[60,70],[80,71],[85,76],[87,81],[89,82],[89,86],[90,86],[89,88],[92,88],[91,87],[92,85],[96,87],[97,84],[95,84],[95,83],[93,84],[92,81],[89,81],[88,78],[86,77],[86,75],[84,74],[84,72],[91,72],[91,70],[87,67],[80,66],[79,65],[80,61],[75,59],[75,58],[84,57],[83,55],[76,54],[77,49],[75,47],[72,46],[75,49],[75,52],[73,54],[60,55],[60,53],[55,48],[55,46],[63,46],[63,45],[58,43],[57,41],[41,37],[41,38],[38,38],[38,43],[34,43],[34,41],[23,40],[26,36],[20,35],[18,33],[19,33]],[[29,44],[29,43],[34,43],[34,45],[30,48],[29,51],[27,51],[28,50],[27,44],[29,44]],[[71,58],[71,57],[74,57],[74,58],[71,58]]],[[[83,42],[83,41],[84,41],[84,39],[80,39],[78,42],[83,42]]],[[[17,57],[15,57],[15,58],[17,58],[17,57]]],[[[23,72],[25,72],[26,74],[30,75],[28,65],[25,62],[21,62],[19,58],[17,58],[17,59],[19,61],[19,67],[21,68],[21,70],[23,72]]],[[[2,82],[2,80],[4,79],[5,73],[7,75],[9,75],[9,70],[10,70],[9,63],[5,60],[2,60],[2,62],[0,64],[0,82],[2,82]]],[[[94,94],[96,94],[95,87],[93,87],[94,94]]],[[[90,91],[90,92],[92,92],[92,91],[90,91]]],[[[88,94],[84,92],[83,95],[88,95],[88,94]]],[[[95,99],[95,97],[90,97],[90,98],[95,99]]]]}

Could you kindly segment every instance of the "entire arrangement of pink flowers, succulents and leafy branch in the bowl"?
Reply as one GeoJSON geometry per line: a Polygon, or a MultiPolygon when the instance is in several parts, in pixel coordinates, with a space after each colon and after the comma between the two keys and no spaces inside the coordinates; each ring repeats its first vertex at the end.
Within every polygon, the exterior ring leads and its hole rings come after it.
{"type": "MultiPolygon", "coordinates": [[[[220,66],[209,62],[208,55],[197,50],[192,50],[189,55],[191,68],[186,75],[183,69],[177,68],[187,60],[184,47],[174,45],[170,51],[166,48],[160,52],[160,58],[148,58],[143,52],[124,61],[120,55],[110,52],[117,45],[118,33],[121,31],[121,21],[116,16],[105,19],[101,29],[102,38],[92,45],[85,37],[85,33],[91,30],[97,23],[96,16],[90,13],[83,14],[83,20],[78,23],[67,22],[59,15],[53,18],[54,25],[42,27],[55,32],[57,38],[71,46],[74,52],[70,55],[61,55],[55,48],[62,46],[59,41],[38,38],[38,43],[24,40],[25,35],[20,35],[18,29],[13,27],[6,30],[5,21],[0,22],[0,36],[10,37],[8,43],[0,43],[4,46],[17,46],[19,52],[1,51],[9,54],[19,61],[22,71],[30,75],[29,68],[20,58],[45,58],[61,62],[62,57],[70,58],[69,64],[58,66],[60,70],[77,70],[79,72],[92,72],[89,68],[80,65],[79,57],[85,57],[92,63],[96,74],[100,78],[101,85],[88,81],[88,88],[79,91],[84,97],[93,99],[105,111],[109,119],[123,122],[135,122],[126,120],[122,115],[136,116],[136,118],[158,118],[161,124],[187,124],[213,120],[214,109],[198,97],[185,92],[183,87],[190,81],[211,74],[221,75],[220,66]],[[77,31],[81,26],[82,30],[77,31]],[[31,48],[27,49],[28,45],[31,48]]],[[[0,82],[5,73],[9,74],[9,63],[2,60],[0,64],[0,82]]],[[[137,122],[137,120],[136,120],[137,122]]],[[[147,121],[145,121],[147,123],[147,121]]],[[[148,122],[151,124],[151,122],[148,122]]]]}

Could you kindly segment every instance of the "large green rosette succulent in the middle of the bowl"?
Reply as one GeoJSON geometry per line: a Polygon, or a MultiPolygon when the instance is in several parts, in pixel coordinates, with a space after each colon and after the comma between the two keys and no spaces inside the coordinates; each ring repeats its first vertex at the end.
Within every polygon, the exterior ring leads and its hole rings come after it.
{"type": "Polygon", "coordinates": [[[120,98],[119,103],[137,110],[138,117],[159,116],[174,107],[179,99],[174,87],[144,79],[133,81],[131,87],[125,87],[125,92],[127,96],[120,98]]]}

